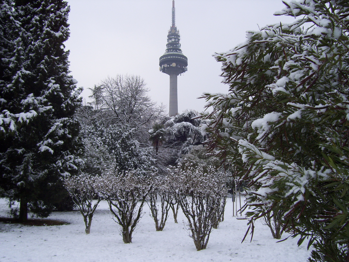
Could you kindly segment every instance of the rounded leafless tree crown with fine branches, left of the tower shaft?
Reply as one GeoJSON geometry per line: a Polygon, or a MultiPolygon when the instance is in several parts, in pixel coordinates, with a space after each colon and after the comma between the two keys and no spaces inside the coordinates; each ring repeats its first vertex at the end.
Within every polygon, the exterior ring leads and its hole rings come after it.
{"type": "Polygon", "coordinates": [[[91,90],[91,104],[110,124],[148,131],[164,112],[164,106],[157,106],[148,96],[149,89],[140,76],[107,77],[91,90]]]}

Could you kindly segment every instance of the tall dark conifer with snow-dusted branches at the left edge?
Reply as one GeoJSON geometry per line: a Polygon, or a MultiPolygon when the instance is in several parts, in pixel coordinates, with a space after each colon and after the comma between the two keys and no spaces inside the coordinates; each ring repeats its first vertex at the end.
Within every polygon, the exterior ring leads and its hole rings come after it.
{"type": "MultiPolygon", "coordinates": [[[[20,201],[20,219],[26,220],[28,207],[39,216],[51,212],[65,192],[62,177],[80,165],[74,113],[81,89],[69,76],[63,44],[69,37],[67,2],[7,1],[7,6],[13,15],[4,24],[17,28],[2,27],[9,48],[1,53],[1,184],[11,200],[20,201]]],[[[2,14],[5,8],[3,2],[2,14]]]]}

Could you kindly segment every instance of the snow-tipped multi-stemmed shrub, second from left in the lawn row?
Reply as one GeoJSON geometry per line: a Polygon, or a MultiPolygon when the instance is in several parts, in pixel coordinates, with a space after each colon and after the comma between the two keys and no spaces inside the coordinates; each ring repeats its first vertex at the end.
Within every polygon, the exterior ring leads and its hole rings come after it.
{"type": "Polygon", "coordinates": [[[146,197],[152,189],[151,174],[144,176],[135,170],[109,172],[96,181],[100,197],[107,200],[114,221],[120,225],[124,243],[132,243],[132,233],[142,216],[146,197]]]}

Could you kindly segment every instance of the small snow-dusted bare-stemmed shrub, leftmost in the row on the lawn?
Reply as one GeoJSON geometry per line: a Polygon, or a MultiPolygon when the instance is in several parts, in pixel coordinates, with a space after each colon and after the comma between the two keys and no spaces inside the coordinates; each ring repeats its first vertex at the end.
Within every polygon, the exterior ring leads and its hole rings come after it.
{"type": "Polygon", "coordinates": [[[90,233],[93,214],[102,200],[95,190],[95,182],[98,178],[98,176],[82,173],[79,176],[67,176],[64,179],[65,188],[84,218],[86,234],[90,233]]]}

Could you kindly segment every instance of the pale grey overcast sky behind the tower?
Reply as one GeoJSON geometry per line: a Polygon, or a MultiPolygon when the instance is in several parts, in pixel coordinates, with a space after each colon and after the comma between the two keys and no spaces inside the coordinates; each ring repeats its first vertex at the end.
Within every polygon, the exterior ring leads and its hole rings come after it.
{"type": "MultiPolygon", "coordinates": [[[[70,5],[70,71],[84,87],[83,97],[102,79],[137,74],[149,95],[169,104],[169,76],[159,71],[171,26],[172,0],[68,0],[70,5]]],[[[175,0],[176,26],[188,71],[178,76],[178,111],[203,111],[203,92],[227,93],[221,83],[221,63],[212,55],[245,41],[246,31],[288,23],[292,17],[274,16],[281,0],[175,0]]]]}

